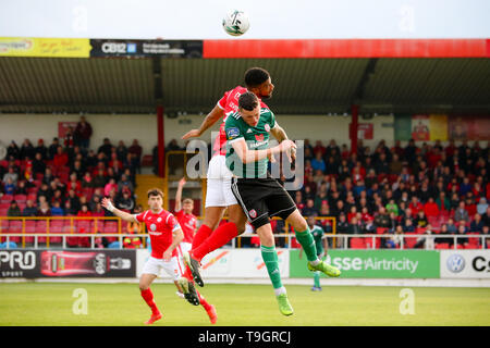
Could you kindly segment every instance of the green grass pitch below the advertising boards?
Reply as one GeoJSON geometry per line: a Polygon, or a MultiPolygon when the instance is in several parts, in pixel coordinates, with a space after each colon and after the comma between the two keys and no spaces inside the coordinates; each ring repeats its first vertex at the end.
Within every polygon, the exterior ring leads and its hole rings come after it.
{"type": "MultiPolygon", "coordinates": [[[[204,309],[175,295],[173,284],[151,286],[163,319],[155,325],[207,326],[204,309]]],[[[413,287],[415,314],[400,313],[401,287],[286,286],[295,310],[280,314],[271,286],[207,284],[203,295],[218,311],[217,325],[490,325],[489,288],[413,287]]],[[[137,284],[0,284],[0,325],[143,325],[150,311],[137,284]],[[88,314],[74,314],[73,290],[88,294],[88,314]]]]}

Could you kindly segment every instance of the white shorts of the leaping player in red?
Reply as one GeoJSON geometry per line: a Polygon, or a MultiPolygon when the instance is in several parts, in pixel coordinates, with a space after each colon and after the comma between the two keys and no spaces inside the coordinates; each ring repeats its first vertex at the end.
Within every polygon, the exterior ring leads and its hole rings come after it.
{"type": "Polygon", "coordinates": [[[226,167],[224,156],[215,156],[209,161],[205,207],[229,207],[237,204],[231,190],[233,174],[226,167]]]}

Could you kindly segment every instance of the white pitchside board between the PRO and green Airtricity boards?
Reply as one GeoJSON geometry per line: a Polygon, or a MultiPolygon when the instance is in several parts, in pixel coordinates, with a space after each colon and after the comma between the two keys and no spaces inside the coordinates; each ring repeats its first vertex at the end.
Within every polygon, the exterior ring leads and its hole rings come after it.
{"type": "MultiPolygon", "coordinates": [[[[289,277],[289,250],[277,249],[279,271],[282,277],[289,277]]],[[[148,260],[149,252],[146,249],[137,250],[137,276],[143,272],[143,266],[148,260]]],[[[260,249],[218,249],[207,254],[201,261],[201,275],[204,278],[244,277],[269,278],[260,249]]],[[[170,279],[166,272],[159,277],[170,279]]]]}

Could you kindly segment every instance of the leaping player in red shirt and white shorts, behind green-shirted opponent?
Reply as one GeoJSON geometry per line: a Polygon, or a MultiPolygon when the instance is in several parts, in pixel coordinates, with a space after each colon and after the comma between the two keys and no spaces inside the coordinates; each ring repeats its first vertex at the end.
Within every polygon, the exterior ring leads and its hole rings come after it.
{"type": "MultiPolygon", "coordinates": [[[[188,253],[184,253],[185,262],[191,266],[189,270],[186,270],[185,276],[189,281],[194,277],[194,281],[196,281],[199,286],[204,286],[198,272],[200,260],[209,252],[221,248],[245,231],[246,216],[231,190],[232,173],[224,163],[224,157],[226,154],[224,122],[229,114],[238,110],[238,98],[246,91],[255,94],[260,100],[261,108],[268,109],[261,99],[272,97],[274,85],[271,82],[270,74],[261,67],[248,69],[245,72],[244,82],[246,87],[236,86],[224,92],[216,107],[205,117],[200,127],[187,132],[182,137],[182,139],[200,137],[215,123],[222,120],[219,136],[213,144],[213,157],[209,161],[207,173],[205,219],[194,237],[192,250],[188,253]],[[226,208],[229,222],[218,227],[218,224],[223,219],[226,208]],[[189,271],[192,275],[188,274],[189,271]]],[[[280,128],[278,127],[278,130],[280,128]]],[[[280,132],[278,132],[278,134],[280,134],[280,132]]],[[[278,139],[279,141],[286,138],[285,134],[281,134],[281,137],[282,138],[278,139]]]]}

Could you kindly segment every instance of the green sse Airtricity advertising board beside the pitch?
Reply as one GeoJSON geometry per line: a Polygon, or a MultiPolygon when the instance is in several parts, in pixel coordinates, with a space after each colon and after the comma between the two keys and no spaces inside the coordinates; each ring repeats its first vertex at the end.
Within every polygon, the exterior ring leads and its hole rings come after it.
{"type": "MultiPolygon", "coordinates": [[[[290,252],[290,276],[310,277],[306,258],[290,252]]],[[[329,250],[327,262],[343,278],[439,278],[439,253],[426,250],[329,250]]]]}

